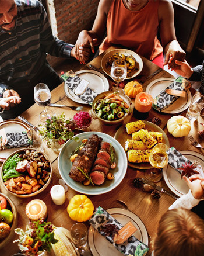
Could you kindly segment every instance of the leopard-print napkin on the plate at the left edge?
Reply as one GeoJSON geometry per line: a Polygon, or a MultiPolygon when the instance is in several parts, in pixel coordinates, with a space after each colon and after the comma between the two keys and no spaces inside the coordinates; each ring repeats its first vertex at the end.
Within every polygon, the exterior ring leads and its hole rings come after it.
{"type": "Polygon", "coordinates": [[[32,140],[27,136],[26,131],[6,133],[5,129],[0,130],[0,149],[26,147],[32,140]]]}

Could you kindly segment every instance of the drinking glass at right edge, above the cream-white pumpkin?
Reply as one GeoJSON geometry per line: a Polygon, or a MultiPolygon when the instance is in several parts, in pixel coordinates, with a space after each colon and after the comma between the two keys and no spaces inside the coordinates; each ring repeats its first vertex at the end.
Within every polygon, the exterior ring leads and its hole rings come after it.
{"type": "Polygon", "coordinates": [[[201,112],[201,109],[203,108],[203,106],[204,106],[204,96],[200,94],[194,95],[191,101],[191,105],[189,105],[188,107],[186,117],[192,121],[198,119],[199,113],[201,112]]]}

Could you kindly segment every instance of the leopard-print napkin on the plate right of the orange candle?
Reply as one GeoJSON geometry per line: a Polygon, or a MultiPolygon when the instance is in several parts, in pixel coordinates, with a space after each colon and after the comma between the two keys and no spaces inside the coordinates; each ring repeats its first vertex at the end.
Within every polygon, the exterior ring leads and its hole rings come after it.
{"type": "MultiPolygon", "coordinates": [[[[191,83],[183,77],[178,77],[166,89],[174,89],[178,91],[187,91],[191,87],[191,83]]],[[[159,95],[153,99],[152,107],[158,111],[166,109],[173,104],[179,97],[167,94],[166,89],[162,90],[159,95]]]]}

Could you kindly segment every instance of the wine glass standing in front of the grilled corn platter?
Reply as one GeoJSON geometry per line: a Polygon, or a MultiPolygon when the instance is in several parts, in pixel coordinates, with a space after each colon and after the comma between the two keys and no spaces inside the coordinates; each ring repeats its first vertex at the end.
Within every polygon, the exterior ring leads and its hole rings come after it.
{"type": "Polygon", "coordinates": [[[162,178],[162,170],[168,164],[168,155],[166,151],[168,146],[164,143],[158,143],[153,147],[149,155],[149,162],[154,167],[145,171],[145,177],[152,182],[159,182],[162,178]]]}

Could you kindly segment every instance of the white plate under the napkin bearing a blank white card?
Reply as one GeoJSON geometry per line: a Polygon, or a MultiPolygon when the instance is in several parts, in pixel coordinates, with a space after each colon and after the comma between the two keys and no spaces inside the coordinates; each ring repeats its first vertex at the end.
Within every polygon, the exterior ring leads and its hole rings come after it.
{"type": "MultiPolygon", "coordinates": [[[[100,94],[101,92],[105,92],[109,90],[109,83],[108,79],[104,77],[100,72],[95,70],[79,70],[75,72],[80,79],[85,79],[89,82],[88,87],[92,89],[97,94],[100,94]]],[[[64,91],[66,96],[68,96],[69,99],[72,99],[72,101],[81,103],[81,104],[88,104],[85,101],[82,101],[76,94],[74,94],[71,89],[68,88],[66,85],[66,82],[64,83],[64,91]]]]}

